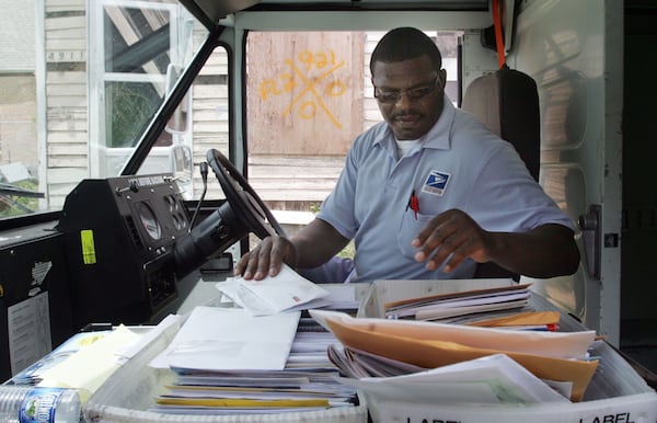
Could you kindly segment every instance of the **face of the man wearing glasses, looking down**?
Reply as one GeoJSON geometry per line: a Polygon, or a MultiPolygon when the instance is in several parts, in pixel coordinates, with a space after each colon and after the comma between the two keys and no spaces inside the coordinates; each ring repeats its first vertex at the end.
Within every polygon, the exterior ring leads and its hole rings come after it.
{"type": "Polygon", "coordinates": [[[436,71],[427,56],[373,64],[372,84],[381,115],[396,139],[425,135],[442,113],[446,72],[436,71]]]}

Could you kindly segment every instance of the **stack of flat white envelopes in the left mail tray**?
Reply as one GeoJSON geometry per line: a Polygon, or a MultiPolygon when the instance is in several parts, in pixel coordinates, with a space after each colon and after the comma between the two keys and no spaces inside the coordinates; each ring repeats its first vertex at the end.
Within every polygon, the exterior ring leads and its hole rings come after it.
{"type": "MultiPolygon", "coordinates": [[[[272,414],[351,408],[356,388],[339,384],[325,351],[328,332],[299,331],[300,312],[251,316],[196,307],[149,366],[174,371],[154,399],[166,414],[272,414]]],[[[313,322],[314,324],[314,322],[313,322]]]]}

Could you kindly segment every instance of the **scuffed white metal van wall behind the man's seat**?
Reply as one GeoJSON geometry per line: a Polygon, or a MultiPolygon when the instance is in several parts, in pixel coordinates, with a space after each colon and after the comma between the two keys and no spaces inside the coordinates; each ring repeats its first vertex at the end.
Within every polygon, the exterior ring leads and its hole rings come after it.
{"type": "Polygon", "coordinates": [[[510,65],[539,87],[541,184],[576,224],[601,210],[599,237],[578,233],[579,271],[534,286],[618,345],[623,4],[523,1],[516,30],[510,65]]]}

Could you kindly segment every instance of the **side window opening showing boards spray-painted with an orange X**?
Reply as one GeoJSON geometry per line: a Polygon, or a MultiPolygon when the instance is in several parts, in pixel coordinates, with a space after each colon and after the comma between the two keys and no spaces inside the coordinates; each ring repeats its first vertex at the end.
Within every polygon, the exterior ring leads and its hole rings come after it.
{"type": "MultiPolygon", "coordinates": [[[[458,32],[426,32],[459,94],[458,32]]],[[[369,56],[381,31],[251,31],[246,41],[249,182],[288,233],[333,190],[354,139],[383,117],[369,56]],[[265,59],[263,59],[265,58],[265,59]]],[[[252,236],[251,243],[257,239],[252,236]]],[[[344,254],[351,254],[349,245],[344,254]]]]}

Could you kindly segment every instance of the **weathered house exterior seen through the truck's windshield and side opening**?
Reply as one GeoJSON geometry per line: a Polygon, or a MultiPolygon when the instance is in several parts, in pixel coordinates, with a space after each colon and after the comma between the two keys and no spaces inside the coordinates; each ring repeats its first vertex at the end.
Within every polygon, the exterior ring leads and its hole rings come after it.
{"type": "MultiPolygon", "coordinates": [[[[45,193],[42,208],[57,209],[82,179],[120,173],[171,89],[172,69],[192,58],[206,30],[191,26],[173,0],[0,0],[0,8],[7,50],[0,57],[0,164],[23,162],[45,193]],[[132,47],[157,37],[165,46],[160,56],[138,62],[132,47]]],[[[380,122],[368,64],[382,34],[250,36],[249,175],[274,208],[308,210],[321,203],[354,137],[380,122]]],[[[456,52],[453,35],[437,39],[456,52]]],[[[446,66],[456,80],[456,57],[446,66]]],[[[210,148],[227,152],[227,99],[228,55],[220,47],[193,85],[181,115],[188,124],[168,130],[140,172],[172,171],[181,151],[192,163],[210,148]]],[[[204,188],[198,172],[184,185],[189,198],[204,188]]],[[[222,197],[218,184],[210,183],[208,197],[222,197]]]]}

